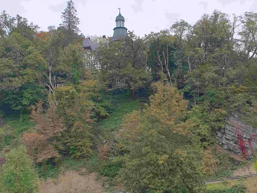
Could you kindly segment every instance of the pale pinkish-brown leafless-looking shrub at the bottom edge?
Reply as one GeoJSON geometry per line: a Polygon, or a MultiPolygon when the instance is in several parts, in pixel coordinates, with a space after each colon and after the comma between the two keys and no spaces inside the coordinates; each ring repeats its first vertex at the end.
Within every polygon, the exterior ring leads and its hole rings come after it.
{"type": "Polygon", "coordinates": [[[87,176],[81,176],[78,172],[68,171],[54,180],[41,181],[41,193],[101,193],[103,192],[102,181],[95,181],[95,173],[87,176]]]}

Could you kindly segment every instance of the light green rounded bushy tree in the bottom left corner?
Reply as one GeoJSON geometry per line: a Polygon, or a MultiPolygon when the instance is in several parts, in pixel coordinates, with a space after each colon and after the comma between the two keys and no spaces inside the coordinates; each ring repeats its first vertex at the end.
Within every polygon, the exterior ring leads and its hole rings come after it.
{"type": "Polygon", "coordinates": [[[37,180],[24,146],[6,153],[0,173],[1,192],[37,192],[37,180]]]}

